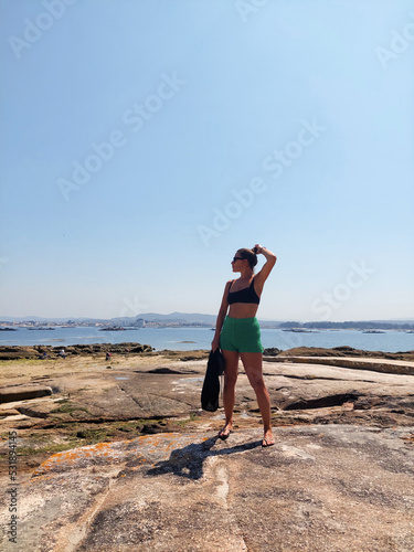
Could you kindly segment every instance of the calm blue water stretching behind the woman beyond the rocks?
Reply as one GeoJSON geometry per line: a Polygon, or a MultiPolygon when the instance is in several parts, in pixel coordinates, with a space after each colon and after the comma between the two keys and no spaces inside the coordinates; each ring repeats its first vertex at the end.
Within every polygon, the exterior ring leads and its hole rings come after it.
{"type": "MultiPolygon", "coordinates": [[[[56,328],[55,330],[1,331],[1,346],[70,346],[87,343],[137,342],[150,344],[157,350],[210,349],[213,331],[209,328],[140,328],[126,331],[99,331],[97,328],[56,328]],[[185,342],[189,341],[189,342],[185,342]]],[[[294,333],[283,330],[262,330],[263,347],[286,350],[294,347],[340,347],[348,346],[367,351],[411,351],[414,349],[414,333],[385,331],[385,333],[362,333],[355,330],[319,330],[312,333],[294,333]]]]}

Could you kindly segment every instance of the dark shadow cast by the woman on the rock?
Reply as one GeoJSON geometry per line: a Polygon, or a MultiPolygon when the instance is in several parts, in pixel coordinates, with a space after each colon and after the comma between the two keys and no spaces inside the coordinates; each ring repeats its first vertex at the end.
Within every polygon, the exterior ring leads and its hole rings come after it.
{"type": "Polygon", "coordinates": [[[174,474],[187,479],[200,479],[203,477],[203,463],[209,456],[222,456],[234,453],[243,453],[262,445],[262,440],[235,445],[230,448],[212,450],[219,437],[211,437],[203,443],[192,443],[183,448],[176,448],[170,454],[168,460],[161,460],[150,468],[146,475],[161,476],[164,474],[174,474]]]}

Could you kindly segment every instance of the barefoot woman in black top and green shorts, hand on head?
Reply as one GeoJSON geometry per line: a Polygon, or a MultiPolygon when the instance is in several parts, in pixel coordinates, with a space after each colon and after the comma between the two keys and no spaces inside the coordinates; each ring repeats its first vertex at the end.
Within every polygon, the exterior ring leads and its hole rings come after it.
{"type": "Polygon", "coordinates": [[[232,268],[234,273],[240,273],[240,278],[230,280],[225,285],[215,335],[211,343],[213,351],[221,348],[225,359],[223,391],[225,425],[219,433],[219,437],[226,439],[233,427],[235,384],[238,358],[241,358],[261,410],[264,425],[262,446],[264,447],[274,445],[275,440],[270,427],[270,399],[263,380],[263,347],[256,312],[263,286],[275,263],[276,255],[258,244],[253,251],[243,248],[236,252],[232,268]],[[253,268],[257,264],[257,254],[263,254],[266,263],[262,270],[254,275],[253,268]]]}

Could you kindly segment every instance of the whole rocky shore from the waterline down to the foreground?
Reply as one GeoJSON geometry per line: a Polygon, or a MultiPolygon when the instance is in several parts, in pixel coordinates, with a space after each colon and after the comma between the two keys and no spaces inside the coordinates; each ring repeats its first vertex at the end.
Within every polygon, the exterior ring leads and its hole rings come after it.
{"type": "Polygon", "coordinates": [[[10,550],[414,549],[413,351],[265,351],[276,445],[262,450],[242,364],[222,443],[223,410],[200,408],[208,351],[60,349],[0,350],[0,480],[13,429],[21,484],[10,550]]]}

